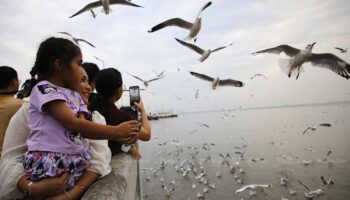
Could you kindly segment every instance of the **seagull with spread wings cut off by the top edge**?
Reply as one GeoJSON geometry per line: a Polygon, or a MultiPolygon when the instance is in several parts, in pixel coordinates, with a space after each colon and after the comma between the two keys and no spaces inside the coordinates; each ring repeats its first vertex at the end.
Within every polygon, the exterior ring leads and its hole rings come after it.
{"type": "Polygon", "coordinates": [[[96,8],[99,6],[102,6],[103,7],[102,11],[104,11],[106,13],[106,15],[108,15],[112,11],[112,9],[109,7],[112,4],[122,4],[122,5],[133,6],[133,7],[142,7],[142,6],[133,4],[130,1],[126,1],[126,0],[99,0],[99,1],[89,3],[84,8],[79,10],[77,13],[70,16],[69,18],[75,17],[75,16],[80,15],[81,13],[83,13],[85,11],[92,10],[93,8],[96,8]]]}

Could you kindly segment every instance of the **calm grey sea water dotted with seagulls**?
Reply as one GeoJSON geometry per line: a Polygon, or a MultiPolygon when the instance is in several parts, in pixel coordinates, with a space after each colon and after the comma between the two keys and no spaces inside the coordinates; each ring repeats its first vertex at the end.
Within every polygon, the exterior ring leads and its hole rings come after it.
{"type": "Polygon", "coordinates": [[[206,173],[205,180],[215,184],[215,189],[204,194],[205,199],[305,199],[306,189],[298,180],[311,190],[324,190],[319,199],[350,199],[350,104],[180,114],[177,118],[151,121],[151,126],[151,141],[140,143],[143,156],[140,167],[144,169],[141,180],[146,200],[197,199],[197,193],[203,193],[204,183],[200,183],[194,173],[183,177],[181,171],[177,171],[181,164],[190,166],[189,162],[198,169],[198,174],[201,170],[206,173]],[[308,126],[320,123],[330,123],[332,127],[302,134],[308,126]],[[164,142],[165,145],[159,145],[164,142]],[[214,145],[209,145],[208,151],[204,149],[206,146],[202,147],[204,143],[214,145]],[[235,154],[242,150],[234,148],[242,145],[247,145],[243,159],[235,154]],[[329,156],[326,155],[328,148],[332,150],[329,156]],[[199,153],[192,157],[191,153],[196,151],[199,153]],[[229,153],[230,165],[239,166],[245,172],[231,173],[228,165],[222,165],[219,153],[229,153]],[[254,158],[264,160],[253,162],[254,158]],[[304,166],[303,160],[312,163],[304,166]],[[165,163],[163,169],[162,162],[165,163]],[[156,175],[155,169],[159,169],[156,175]],[[221,172],[222,177],[217,177],[217,172],[221,172]],[[335,184],[323,185],[321,176],[332,178],[335,184]],[[281,177],[288,177],[286,187],[280,184],[281,177]],[[237,183],[237,179],[243,183],[237,183]],[[171,181],[175,181],[175,185],[171,181]],[[246,184],[271,184],[272,187],[256,190],[252,197],[249,191],[235,194],[246,184]],[[162,185],[175,190],[167,196],[162,185]],[[291,196],[289,189],[296,190],[296,195],[291,196]]]}

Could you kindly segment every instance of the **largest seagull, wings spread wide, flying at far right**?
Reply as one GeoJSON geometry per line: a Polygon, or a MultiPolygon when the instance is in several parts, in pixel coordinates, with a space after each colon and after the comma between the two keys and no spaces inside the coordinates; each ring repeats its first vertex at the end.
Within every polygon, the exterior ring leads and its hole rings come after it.
{"type": "Polygon", "coordinates": [[[284,44],[270,49],[264,49],[255,52],[253,53],[253,55],[257,55],[260,53],[280,54],[281,52],[284,52],[287,56],[291,57],[291,59],[279,59],[279,65],[282,71],[287,73],[288,77],[291,77],[292,72],[294,72],[294,70],[297,70],[296,79],[298,79],[300,75],[300,69],[302,69],[302,65],[305,62],[311,62],[311,64],[315,66],[328,68],[336,74],[346,79],[349,79],[350,65],[331,53],[312,53],[312,48],[315,44],[316,42],[309,44],[303,50],[296,49],[294,47],[284,44]]]}

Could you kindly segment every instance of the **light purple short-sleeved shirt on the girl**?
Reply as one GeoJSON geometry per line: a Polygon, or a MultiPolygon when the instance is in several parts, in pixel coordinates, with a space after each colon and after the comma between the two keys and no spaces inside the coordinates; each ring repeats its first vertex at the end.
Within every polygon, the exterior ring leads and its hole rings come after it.
{"type": "Polygon", "coordinates": [[[36,84],[30,95],[28,110],[28,151],[51,151],[80,154],[88,150],[79,133],[66,130],[43,106],[51,101],[63,100],[75,116],[88,113],[80,95],[70,89],[56,86],[48,81],[36,84]]]}

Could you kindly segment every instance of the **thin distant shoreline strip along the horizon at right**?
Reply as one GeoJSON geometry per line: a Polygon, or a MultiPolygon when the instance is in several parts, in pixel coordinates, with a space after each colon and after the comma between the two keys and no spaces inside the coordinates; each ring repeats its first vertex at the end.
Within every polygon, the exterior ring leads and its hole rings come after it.
{"type": "Polygon", "coordinates": [[[246,108],[242,107],[241,109],[233,108],[233,109],[219,109],[219,110],[188,111],[188,112],[181,112],[180,114],[231,112],[231,111],[238,111],[238,110],[261,110],[261,109],[292,108],[292,107],[307,107],[307,106],[322,106],[322,105],[337,105],[337,104],[350,104],[350,101],[290,104],[290,105],[277,105],[277,106],[257,106],[257,107],[246,107],[246,108]]]}

